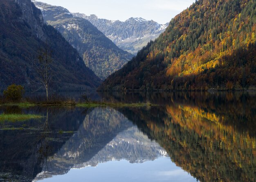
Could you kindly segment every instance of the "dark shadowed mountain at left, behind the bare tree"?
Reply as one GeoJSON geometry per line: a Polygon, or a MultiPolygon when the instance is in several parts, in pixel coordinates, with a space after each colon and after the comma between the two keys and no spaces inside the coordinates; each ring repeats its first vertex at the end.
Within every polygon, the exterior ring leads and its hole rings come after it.
{"type": "Polygon", "coordinates": [[[38,49],[52,50],[58,90],[95,89],[100,79],[85,66],[79,53],[43,17],[30,0],[0,1],[0,90],[9,84],[36,87],[32,67],[38,49]]]}

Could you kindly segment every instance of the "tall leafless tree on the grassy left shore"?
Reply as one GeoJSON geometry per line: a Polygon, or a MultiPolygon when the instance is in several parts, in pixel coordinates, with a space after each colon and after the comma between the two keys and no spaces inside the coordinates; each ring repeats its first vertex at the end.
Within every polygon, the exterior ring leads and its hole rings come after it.
{"type": "Polygon", "coordinates": [[[49,49],[47,44],[45,47],[38,50],[36,61],[32,62],[33,68],[38,74],[35,80],[32,81],[41,85],[39,89],[45,88],[47,102],[49,100],[49,85],[52,82],[52,78],[54,76],[53,70],[51,68],[52,62],[52,51],[49,49]]]}

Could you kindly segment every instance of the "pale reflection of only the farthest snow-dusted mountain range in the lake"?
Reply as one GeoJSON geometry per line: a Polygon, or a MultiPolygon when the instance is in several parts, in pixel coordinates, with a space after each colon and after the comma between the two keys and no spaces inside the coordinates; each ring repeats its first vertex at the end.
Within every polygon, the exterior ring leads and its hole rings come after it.
{"type": "Polygon", "coordinates": [[[130,163],[142,163],[155,160],[160,156],[167,156],[166,151],[155,141],[149,140],[137,127],[132,127],[119,133],[90,161],[75,165],[74,168],[97,166],[101,162],[122,159],[128,160],[130,163]]]}

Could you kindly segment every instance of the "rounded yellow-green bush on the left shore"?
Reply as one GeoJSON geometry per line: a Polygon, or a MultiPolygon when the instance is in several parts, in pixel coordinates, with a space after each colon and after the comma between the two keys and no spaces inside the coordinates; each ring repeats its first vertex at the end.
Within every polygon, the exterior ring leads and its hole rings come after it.
{"type": "Polygon", "coordinates": [[[24,87],[21,85],[12,84],[4,90],[4,97],[11,102],[19,102],[24,93],[24,87]]]}

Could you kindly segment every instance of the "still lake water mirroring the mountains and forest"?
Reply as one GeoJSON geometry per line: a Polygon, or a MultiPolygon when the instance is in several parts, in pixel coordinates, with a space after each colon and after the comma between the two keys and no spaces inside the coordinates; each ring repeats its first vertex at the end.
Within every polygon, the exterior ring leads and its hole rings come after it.
{"type": "Polygon", "coordinates": [[[0,182],[256,181],[255,93],[98,95],[158,106],[1,107],[0,182]]]}

